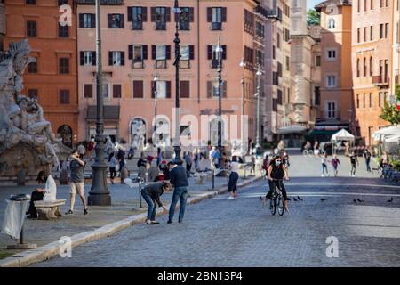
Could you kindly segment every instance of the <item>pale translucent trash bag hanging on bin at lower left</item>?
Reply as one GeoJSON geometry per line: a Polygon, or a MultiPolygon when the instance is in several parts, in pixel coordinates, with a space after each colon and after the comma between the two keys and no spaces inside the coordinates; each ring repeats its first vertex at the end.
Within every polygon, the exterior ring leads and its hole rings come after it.
{"type": "Polygon", "coordinates": [[[2,232],[8,234],[14,240],[18,240],[25,221],[29,200],[12,201],[7,199],[6,202],[7,208],[5,208],[2,232]]]}

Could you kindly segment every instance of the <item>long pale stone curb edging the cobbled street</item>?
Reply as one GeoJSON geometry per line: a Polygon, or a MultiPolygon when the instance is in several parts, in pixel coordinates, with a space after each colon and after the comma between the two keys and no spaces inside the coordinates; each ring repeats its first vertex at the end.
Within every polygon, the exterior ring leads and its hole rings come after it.
{"type": "MultiPolygon", "coordinates": [[[[254,177],[248,179],[248,181],[244,181],[243,183],[238,183],[237,186],[244,187],[260,180],[261,178],[262,177],[254,177]]],[[[217,195],[225,194],[227,192],[228,186],[222,186],[217,190],[199,194],[194,197],[189,197],[187,204],[196,204],[204,199],[211,199],[217,195]]],[[[156,215],[163,215],[163,210],[161,208],[157,208],[156,215]]],[[[121,232],[134,224],[144,223],[146,221],[146,218],[147,213],[140,213],[134,216],[129,216],[121,221],[103,225],[100,228],[92,231],[77,233],[71,237],[71,248],[75,248],[77,246],[83,245],[84,243],[92,242],[94,240],[108,238],[116,232],[121,232]]],[[[22,267],[48,260],[52,256],[56,256],[60,253],[61,246],[62,245],[59,241],[53,241],[44,245],[43,247],[20,252],[18,254],[0,260],[0,267],[22,267]]]]}

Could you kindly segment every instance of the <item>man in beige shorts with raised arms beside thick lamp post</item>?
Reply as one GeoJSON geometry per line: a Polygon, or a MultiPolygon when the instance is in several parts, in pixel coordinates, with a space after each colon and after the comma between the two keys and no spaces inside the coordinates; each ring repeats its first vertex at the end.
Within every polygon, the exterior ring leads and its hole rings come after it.
{"type": "Polygon", "coordinates": [[[69,211],[65,215],[74,214],[76,192],[84,204],[84,215],[88,214],[86,199],[84,199],[84,159],[79,159],[78,151],[73,151],[71,155],[71,163],[69,169],[71,171],[71,205],[69,211]]]}

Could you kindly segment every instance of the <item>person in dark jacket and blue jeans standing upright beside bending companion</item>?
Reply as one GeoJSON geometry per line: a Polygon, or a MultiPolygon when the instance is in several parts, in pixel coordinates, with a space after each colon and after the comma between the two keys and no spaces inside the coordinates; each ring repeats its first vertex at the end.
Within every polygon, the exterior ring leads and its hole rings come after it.
{"type": "Polygon", "coordinates": [[[170,183],[173,185],[173,195],[168,224],[172,223],[173,215],[175,214],[175,207],[179,199],[180,215],[178,222],[182,223],[183,216],[185,215],[186,201],[188,199],[188,175],[186,174],[185,167],[178,166],[176,162],[169,162],[168,165],[170,167],[170,183]]]}

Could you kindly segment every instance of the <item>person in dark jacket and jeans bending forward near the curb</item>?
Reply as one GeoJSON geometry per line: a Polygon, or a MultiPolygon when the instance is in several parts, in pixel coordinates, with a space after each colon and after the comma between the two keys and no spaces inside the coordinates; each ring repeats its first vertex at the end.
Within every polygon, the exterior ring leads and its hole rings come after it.
{"type": "Polygon", "coordinates": [[[163,208],[164,214],[168,213],[167,208],[164,207],[160,200],[160,196],[168,191],[171,191],[171,184],[167,182],[148,184],[140,191],[140,195],[148,204],[148,219],[146,220],[146,224],[160,224],[156,222],[157,205],[163,208]]]}

